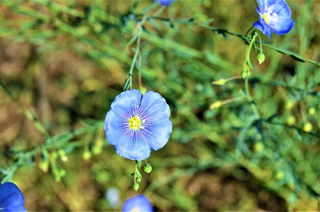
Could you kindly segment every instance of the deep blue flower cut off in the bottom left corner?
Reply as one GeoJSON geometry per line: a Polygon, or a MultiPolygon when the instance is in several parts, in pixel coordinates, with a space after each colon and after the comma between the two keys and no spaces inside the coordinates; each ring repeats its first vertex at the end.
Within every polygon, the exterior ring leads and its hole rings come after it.
{"type": "Polygon", "coordinates": [[[14,183],[0,183],[0,211],[27,211],[24,204],[24,195],[14,183]]]}

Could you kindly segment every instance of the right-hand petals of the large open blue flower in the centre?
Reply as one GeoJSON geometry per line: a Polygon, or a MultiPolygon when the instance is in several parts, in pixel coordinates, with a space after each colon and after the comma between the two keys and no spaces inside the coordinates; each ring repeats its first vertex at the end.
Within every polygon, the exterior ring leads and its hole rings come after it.
{"type": "Polygon", "coordinates": [[[148,91],[142,98],[138,114],[145,120],[145,128],[139,130],[139,133],[148,142],[150,149],[164,147],[172,132],[170,109],[166,100],[160,94],[148,91]]]}

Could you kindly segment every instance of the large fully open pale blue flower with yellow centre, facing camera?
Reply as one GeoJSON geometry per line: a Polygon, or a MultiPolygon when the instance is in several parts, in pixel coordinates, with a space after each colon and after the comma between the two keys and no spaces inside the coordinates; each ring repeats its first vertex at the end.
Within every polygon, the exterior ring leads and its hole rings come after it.
{"type": "Polygon", "coordinates": [[[158,93],[128,90],[111,103],[104,122],[108,142],[117,153],[141,161],[150,156],[150,149],[166,145],[172,132],[170,109],[158,93]]]}

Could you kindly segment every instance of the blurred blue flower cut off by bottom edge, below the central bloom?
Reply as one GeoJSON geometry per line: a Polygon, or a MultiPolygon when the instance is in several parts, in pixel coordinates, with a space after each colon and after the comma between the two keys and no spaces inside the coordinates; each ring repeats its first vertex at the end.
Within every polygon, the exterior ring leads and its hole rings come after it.
{"type": "Polygon", "coordinates": [[[149,199],[142,194],[131,197],[125,201],[122,211],[153,211],[149,199]]]}

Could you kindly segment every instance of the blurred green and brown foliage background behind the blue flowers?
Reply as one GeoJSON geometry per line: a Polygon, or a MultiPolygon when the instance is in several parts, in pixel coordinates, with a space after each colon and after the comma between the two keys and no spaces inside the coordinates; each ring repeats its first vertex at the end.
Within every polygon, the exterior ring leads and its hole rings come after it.
{"type": "Polygon", "coordinates": [[[156,210],[317,210],[319,1],[288,2],[295,27],[264,43],[261,65],[252,50],[249,102],[240,73],[255,5],[1,2],[2,181],[18,184],[31,211],[117,210],[112,188],[121,202],[143,193],[156,210]],[[135,162],[103,129],[130,68],[132,88],[160,93],[173,122],[138,192],[135,162]]]}

